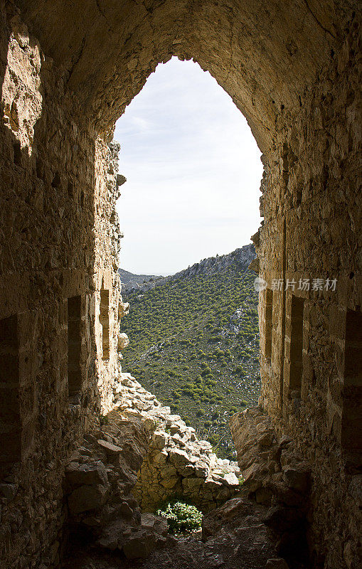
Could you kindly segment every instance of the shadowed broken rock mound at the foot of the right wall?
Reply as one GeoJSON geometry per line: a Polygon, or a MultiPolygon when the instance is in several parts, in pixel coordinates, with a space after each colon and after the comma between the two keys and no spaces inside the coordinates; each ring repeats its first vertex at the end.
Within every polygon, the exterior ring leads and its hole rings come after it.
{"type": "Polygon", "coordinates": [[[260,408],[233,415],[230,427],[238,446],[243,494],[269,506],[264,523],[277,534],[276,551],[287,558],[288,566],[308,565],[309,464],[290,437],[275,432],[260,408]]]}

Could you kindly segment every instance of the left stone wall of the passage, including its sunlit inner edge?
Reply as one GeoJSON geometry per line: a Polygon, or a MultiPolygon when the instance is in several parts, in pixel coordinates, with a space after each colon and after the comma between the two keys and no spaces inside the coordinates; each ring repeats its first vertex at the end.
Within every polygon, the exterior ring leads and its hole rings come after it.
{"type": "Polygon", "coordinates": [[[119,365],[119,147],[80,129],[61,71],[11,4],[0,35],[0,558],[6,569],[53,567],[63,461],[110,407],[119,365]]]}

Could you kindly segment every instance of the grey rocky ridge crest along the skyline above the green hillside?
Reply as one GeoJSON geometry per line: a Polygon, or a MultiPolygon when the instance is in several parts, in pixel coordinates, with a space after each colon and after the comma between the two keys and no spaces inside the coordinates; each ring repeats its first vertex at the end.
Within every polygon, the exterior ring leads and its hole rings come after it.
{"type": "Polygon", "coordinates": [[[176,272],[168,277],[159,277],[156,275],[134,275],[132,272],[118,269],[122,281],[122,292],[145,292],[154,287],[159,287],[171,280],[179,280],[186,277],[194,277],[196,275],[213,275],[223,271],[226,267],[233,265],[240,270],[247,270],[250,262],[255,259],[255,247],[250,243],[241,248],[235,249],[226,255],[216,255],[216,257],[207,257],[206,259],[196,262],[191,267],[176,272]]]}

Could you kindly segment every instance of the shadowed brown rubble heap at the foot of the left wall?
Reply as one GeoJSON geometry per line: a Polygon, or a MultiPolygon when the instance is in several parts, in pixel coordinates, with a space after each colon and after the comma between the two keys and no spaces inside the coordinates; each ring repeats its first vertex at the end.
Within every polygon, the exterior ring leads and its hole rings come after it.
{"type": "MultiPolygon", "coordinates": [[[[65,469],[70,536],[87,534],[100,550],[128,559],[172,546],[166,520],[142,514],[130,494],[148,450],[149,433],[139,422],[112,411],[107,422],[84,436],[65,469]]],[[[69,544],[70,550],[72,543],[69,544]]]]}

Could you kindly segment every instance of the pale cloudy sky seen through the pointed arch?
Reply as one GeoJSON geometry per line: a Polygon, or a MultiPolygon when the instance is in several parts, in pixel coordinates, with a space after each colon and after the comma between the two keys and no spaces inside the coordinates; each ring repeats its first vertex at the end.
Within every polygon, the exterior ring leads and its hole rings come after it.
{"type": "Polygon", "coordinates": [[[169,275],[250,243],[260,150],[229,95],[197,63],[160,64],[116,124],[119,264],[169,275]]]}

